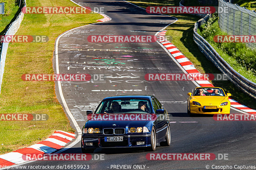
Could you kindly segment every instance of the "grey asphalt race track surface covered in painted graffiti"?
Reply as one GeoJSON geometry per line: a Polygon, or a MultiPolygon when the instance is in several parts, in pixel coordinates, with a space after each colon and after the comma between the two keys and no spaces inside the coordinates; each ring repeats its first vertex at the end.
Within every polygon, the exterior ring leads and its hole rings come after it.
{"type": "MultiPolygon", "coordinates": [[[[111,165],[145,165],[145,169],[206,169],[206,165],[256,165],[255,122],[215,121],[212,116],[188,117],[187,93],[196,88],[191,81],[146,81],[148,73],[184,73],[168,53],[153,43],[91,43],[90,35],[152,35],[176,19],[145,10],[121,0],[94,0],[76,3],[104,7],[111,21],[76,28],[58,42],[60,74],[103,74],[103,80],[61,81],[67,106],[82,129],[86,110],[95,110],[106,96],[154,95],[170,116],[171,146],[157,147],[154,153],[228,154],[228,160],[147,160],[142,149],[96,149],[105,160],[35,161],[33,165],[89,165],[89,169],[111,169],[111,165]]],[[[172,25],[170,25],[172,26],[172,25]]],[[[197,48],[197,46],[195,47],[197,48]]],[[[55,53],[55,52],[54,52],[55,53]]],[[[56,73],[54,55],[53,67],[56,73]]],[[[95,76],[96,78],[97,76],[95,76]]],[[[57,83],[56,83],[57,84],[57,83]]],[[[61,104],[59,88],[56,94],[61,104]]],[[[237,113],[231,110],[231,113],[237,113]]],[[[81,153],[78,142],[64,153],[81,153]]],[[[143,167],[143,166],[142,166],[143,167]]],[[[113,168],[112,168],[113,169],[113,168]]],[[[133,168],[132,168],[133,169],[133,168]]]]}

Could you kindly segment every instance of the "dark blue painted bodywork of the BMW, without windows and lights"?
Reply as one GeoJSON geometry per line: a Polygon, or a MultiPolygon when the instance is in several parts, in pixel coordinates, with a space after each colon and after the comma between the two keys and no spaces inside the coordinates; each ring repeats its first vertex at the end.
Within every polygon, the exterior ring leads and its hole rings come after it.
{"type": "MultiPolygon", "coordinates": [[[[150,101],[150,107],[154,114],[156,114],[157,117],[160,116],[159,113],[155,113],[153,109],[153,105],[151,102],[152,98],[155,98],[155,96],[148,96],[148,95],[131,95],[131,96],[110,96],[106,97],[102,100],[116,100],[116,99],[147,99],[150,101]]],[[[99,106],[98,106],[99,107],[99,106]]],[[[97,109],[98,109],[97,107],[97,109]]],[[[97,110],[96,109],[96,110],[97,110]]],[[[164,114],[166,118],[168,118],[167,111],[163,109],[157,110],[157,112],[160,112],[164,114]]],[[[96,149],[96,148],[118,148],[118,147],[147,147],[150,146],[151,143],[151,131],[153,126],[156,128],[156,144],[159,145],[160,142],[165,141],[166,137],[166,130],[167,126],[169,124],[168,119],[160,120],[159,118],[155,121],[87,121],[83,127],[83,129],[86,128],[100,128],[102,132],[102,128],[117,128],[122,127],[125,128],[125,134],[123,135],[104,135],[101,134],[82,134],[82,147],[85,149],[96,149]],[[113,127],[113,124],[116,124],[116,126],[113,127]],[[147,127],[149,132],[141,132],[141,133],[128,133],[128,127],[147,127]],[[118,142],[115,146],[103,146],[104,143],[104,137],[106,136],[123,136],[123,145],[118,145],[118,142]],[[145,145],[134,145],[135,142],[145,141],[145,145]],[[94,143],[94,146],[85,146],[84,142],[92,142],[94,143]],[[124,146],[124,143],[127,145],[124,146]],[[96,145],[97,144],[97,145],[96,145]]],[[[106,142],[107,143],[107,142],[106,142]]],[[[106,144],[105,143],[105,144],[106,144]]],[[[112,142],[108,142],[109,144],[113,144],[112,142]]],[[[119,142],[120,144],[122,142],[119,142]]]]}

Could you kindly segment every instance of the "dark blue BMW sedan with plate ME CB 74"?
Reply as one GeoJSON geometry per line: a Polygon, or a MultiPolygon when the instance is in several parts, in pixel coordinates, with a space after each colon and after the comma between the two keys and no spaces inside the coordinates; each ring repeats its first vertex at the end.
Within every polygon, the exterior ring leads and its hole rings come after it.
{"type": "Polygon", "coordinates": [[[104,98],[94,113],[86,111],[81,138],[83,153],[96,148],[170,146],[168,113],[155,96],[132,95],[104,98]]]}

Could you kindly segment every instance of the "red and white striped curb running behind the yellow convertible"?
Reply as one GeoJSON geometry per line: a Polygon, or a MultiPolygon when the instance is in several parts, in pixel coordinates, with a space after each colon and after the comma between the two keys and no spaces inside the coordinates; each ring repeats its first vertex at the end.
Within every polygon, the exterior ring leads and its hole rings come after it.
{"type": "MultiPolygon", "coordinates": [[[[188,72],[188,74],[201,74],[197,71],[196,67],[188,60],[188,58],[185,57],[176,46],[174,46],[170,41],[168,41],[165,38],[165,33],[166,33],[166,30],[160,31],[157,33],[156,39],[158,40],[158,42],[163,44],[163,46],[172,54],[172,56],[177,60],[177,62],[181,65],[181,67],[183,67],[188,72]]],[[[196,82],[202,87],[214,87],[212,83],[206,80],[196,81],[196,82]]],[[[230,101],[231,107],[234,107],[238,110],[241,110],[250,114],[256,114],[256,110],[253,110],[247,106],[244,106],[231,98],[229,98],[229,101],[230,101]]]]}

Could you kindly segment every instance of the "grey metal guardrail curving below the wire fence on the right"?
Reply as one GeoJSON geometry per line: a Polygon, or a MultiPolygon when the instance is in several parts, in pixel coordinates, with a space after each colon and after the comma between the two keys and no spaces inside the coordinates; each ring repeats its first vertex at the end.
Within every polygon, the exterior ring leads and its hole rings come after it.
{"type": "Polygon", "coordinates": [[[241,74],[239,74],[236,70],[234,70],[230,65],[222,59],[222,57],[215,51],[215,49],[202,37],[197,33],[197,28],[206,23],[209,19],[210,15],[207,14],[204,18],[198,20],[195,23],[194,27],[194,41],[198,45],[200,51],[204,53],[204,55],[212,61],[218,69],[227,74],[229,80],[233,82],[237,87],[242,89],[249,96],[256,99],[256,83],[248,80],[241,74]]]}

